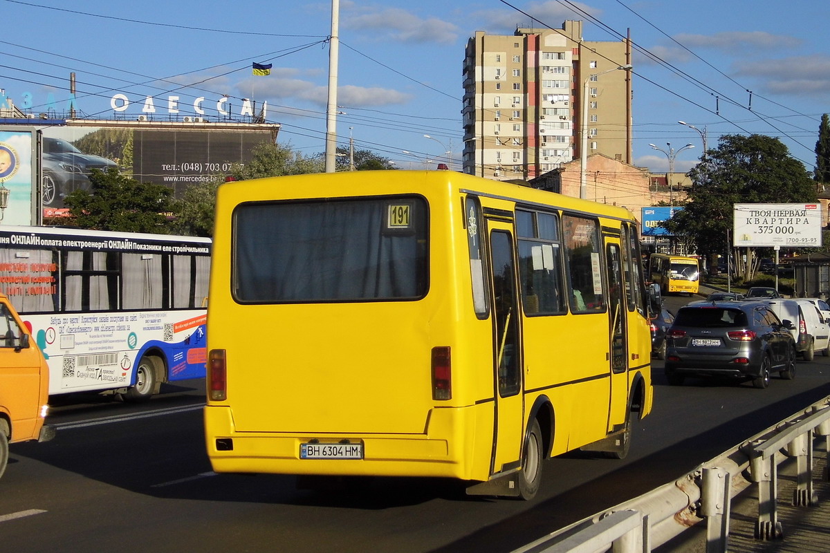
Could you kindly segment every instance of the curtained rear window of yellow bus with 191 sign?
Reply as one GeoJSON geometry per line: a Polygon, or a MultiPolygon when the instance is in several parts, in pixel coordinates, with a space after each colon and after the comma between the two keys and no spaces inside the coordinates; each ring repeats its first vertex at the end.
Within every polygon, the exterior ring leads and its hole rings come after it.
{"type": "Polygon", "coordinates": [[[251,202],[233,217],[240,303],[357,302],[427,293],[420,196],[251,202]]]}

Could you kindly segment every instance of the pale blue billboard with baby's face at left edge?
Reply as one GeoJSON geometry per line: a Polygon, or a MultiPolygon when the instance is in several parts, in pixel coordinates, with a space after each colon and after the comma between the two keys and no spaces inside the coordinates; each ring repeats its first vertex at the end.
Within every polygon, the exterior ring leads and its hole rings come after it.
{"type": "Polygon", "coordinates": [[[32,225],[32,131],[0,130],[0,186],[8,189],[3,225],[32,225]]]}

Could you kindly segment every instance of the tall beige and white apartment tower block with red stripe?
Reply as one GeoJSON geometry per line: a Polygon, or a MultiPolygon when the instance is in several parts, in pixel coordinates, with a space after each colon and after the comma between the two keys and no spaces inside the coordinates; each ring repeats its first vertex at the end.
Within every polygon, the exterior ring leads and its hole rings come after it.
{"type": "Polygon", "coordinates": [[[463,171],[538,177],[582,156],[582,129],[586,155],[631,163],[631,71],[617,70],[630,63],[629,42],[583,41],[581,21],[476,32],[462,72],[463,171]]]}

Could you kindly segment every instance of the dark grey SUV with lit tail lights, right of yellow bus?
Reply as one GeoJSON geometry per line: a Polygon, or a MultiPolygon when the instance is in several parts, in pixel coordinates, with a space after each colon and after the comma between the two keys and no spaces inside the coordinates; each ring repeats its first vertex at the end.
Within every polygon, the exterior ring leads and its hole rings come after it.
{"type": "Polygon", "coordinates": [[[686,376],[734,376],[769,386],[769,376],[795,377],[795,342],[781,321],[760,302],[711,302],[677,311],[667,333],[666,378],[679,386],[686,376]]]}

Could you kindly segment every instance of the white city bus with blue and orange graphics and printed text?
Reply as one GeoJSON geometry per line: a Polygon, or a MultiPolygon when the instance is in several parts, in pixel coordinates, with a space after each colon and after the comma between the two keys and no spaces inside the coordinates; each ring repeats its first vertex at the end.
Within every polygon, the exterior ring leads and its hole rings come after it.
{"type": "Polygon", "coordinates": [[[211,240],[0,226],[0,292],[49,364],[49,394],[144,400],[205,376],[211,240]]]}

